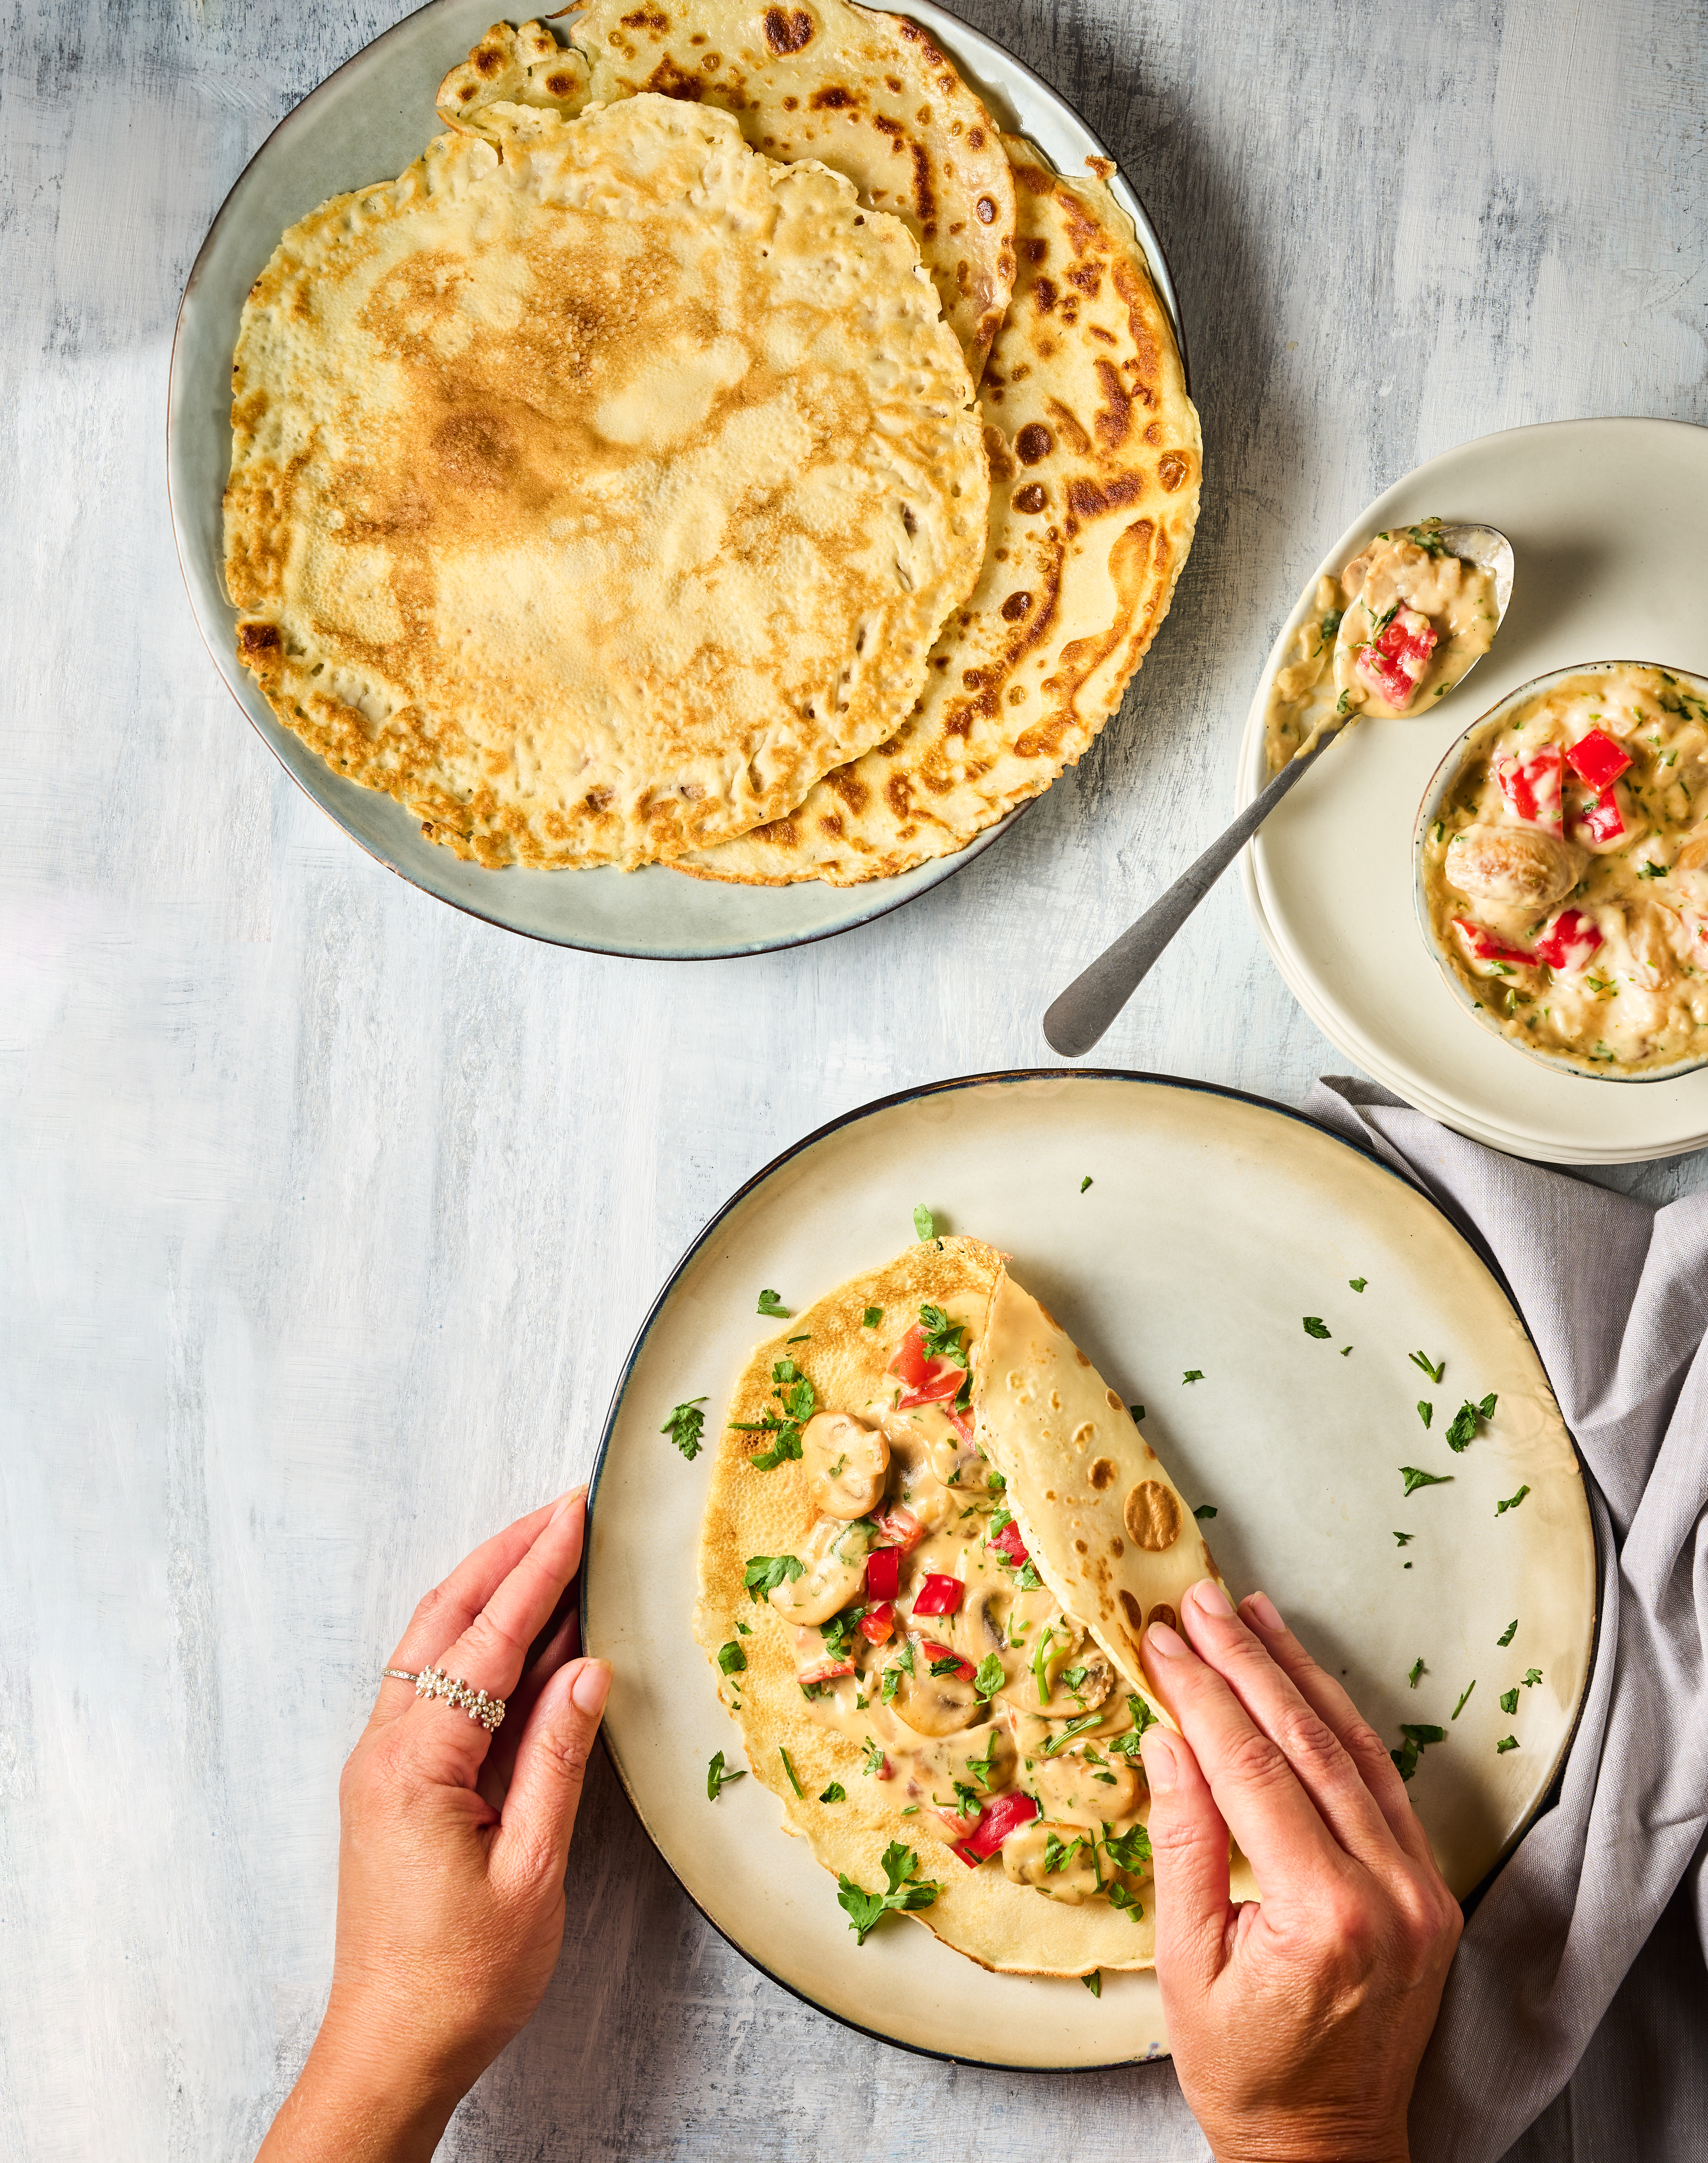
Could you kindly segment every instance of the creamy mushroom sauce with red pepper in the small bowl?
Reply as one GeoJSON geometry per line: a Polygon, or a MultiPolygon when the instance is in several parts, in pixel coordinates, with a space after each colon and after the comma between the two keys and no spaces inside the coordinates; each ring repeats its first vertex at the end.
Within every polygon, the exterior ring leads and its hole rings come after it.
{"type": "Polygon", "coordinates": [[[1476,731],[1424,839],[1424,895],[1446,965],[1498,1027],[1595,1073],[1643,1073],[1708,1056],[1708,701],[1663,668],[1598,668],[1476,731]],[[1505,759],[1561,753],[1591,731],[1632,764],[1591,789],[1565,766],[1559,822],[1524,820],[1505,759]],[[1611,792],[1624,833],[1585,826],[1611,792]],[[1559,828],[1559,831],[1556,831],[1559,828]],[[1569,880],[1569,883],[1565,883],[1569,880]],[[1600,943],[1550,967],[1563,911],[1600,943]],[[1468,952],[1466,921],[1520,958],[1468,952]]]}

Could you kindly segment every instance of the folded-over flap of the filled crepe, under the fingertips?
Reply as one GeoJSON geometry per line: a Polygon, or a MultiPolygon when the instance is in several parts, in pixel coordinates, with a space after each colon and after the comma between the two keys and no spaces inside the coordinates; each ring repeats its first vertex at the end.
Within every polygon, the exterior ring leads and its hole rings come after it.
{"type": "Polygon", "coordinates": [[[1145,1627],[1175,1627],[1186,1588],[1221,1570],[1119,1391],[1007,1270],[978,1341],[974,1404],[978,1445],[1050,1590],[1147,1691],[1145,1627]]]}

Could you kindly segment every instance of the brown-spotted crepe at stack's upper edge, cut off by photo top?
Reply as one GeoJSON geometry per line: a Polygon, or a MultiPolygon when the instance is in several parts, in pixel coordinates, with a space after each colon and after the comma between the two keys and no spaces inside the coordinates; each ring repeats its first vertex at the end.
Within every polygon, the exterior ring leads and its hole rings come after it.
{"type": "Polygon", "coordinates": [[[721,106],[753,149],[820,158],[907,225],[978,381],[1013,286],[1013,180],[976,93],[918,24],[844,0],[591,0],[567,37],[496,22],[446,76],[439,115],[478,132],[494,99],[578,112],[654,91],[721,106]]]}

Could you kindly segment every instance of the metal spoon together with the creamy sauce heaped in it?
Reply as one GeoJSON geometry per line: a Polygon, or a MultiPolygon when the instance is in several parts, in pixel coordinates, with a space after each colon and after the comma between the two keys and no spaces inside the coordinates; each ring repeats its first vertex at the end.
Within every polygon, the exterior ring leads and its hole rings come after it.
{"type": "Polygon", "coordinates": [[[1162,950],[1331,742],[1362,714],[1433,718],[1489,651],[1513,599],[1513,545],[1496,526],[1424,519],[1375,534],[1340,580],[1295,610],[1295,660],[1275,671],[1273,779],[1204,854],[1043,1014],[1052,1051],[1082,1058],[1162,950]]]}

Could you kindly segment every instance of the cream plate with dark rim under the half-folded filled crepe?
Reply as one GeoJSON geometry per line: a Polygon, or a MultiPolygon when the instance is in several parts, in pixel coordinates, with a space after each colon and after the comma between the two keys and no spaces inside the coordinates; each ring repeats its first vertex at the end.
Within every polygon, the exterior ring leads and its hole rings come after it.
{"type": "Polygon", "coordinates": [[[706,1800],[712,1752],[743,1763],[693,1640],[712,1460],[684,1464],[658,1430],[704,1395],[714,1438],[771,1330],[760,1287],[803,1306],[903,1248],[916,1203],[1007,1248],[1020,1283],[1147,1404],[1162,1462],[1221,1512],[1214,1551],[1236,1592],[1266,1588],[1392,1743],[1401,1722],[1448,1728],[1411,1793],[1461,1895],[1537,1808],[1589,1674],[1595,1551],[1576,1456],[1522,1322],[1461,1233],[1362,1151],[1251,1097],[1061,1071],[911,1090],[790,1149],[688,1250],[606,1423],[582,1590],[584,1642],[617,1670],[604,1733],[641,1821],[732,1945],[851,2027],[987,2066],[1149,2057],[1167,2048],[1152,1975],[1111,1975],[1091,1999],[987,1975],[901,1919],[855,1949],[775,1797],[743,1780],[706,1800]],[[1303,1313],[1333,1337],[1305,1335],[1303,1313]],[[1440,1386],[1414,1350],[1446,1363],[1440,1386]],[[1186,1386],[1191,1367],[1204,1380],[1186,1386]],[[1485,1391],[1494,1425],[1453,1456],[1444,1428],[1485,1391]],[[1429,1432],[1418,1397],[1435,1406],[1429,1432]],[[1401,1464],[1453,1486],[1405,1499],[1401,1464]],[[1522,1508],[1498,1516],[1522,1484],[1522,1508]],[[1509,1717],[1498,1698],[1526,1668],[1541,1683],[1509,1717]],[[1507,1733],[1520,1748],[1496,1754],[1507,1733]]]}

